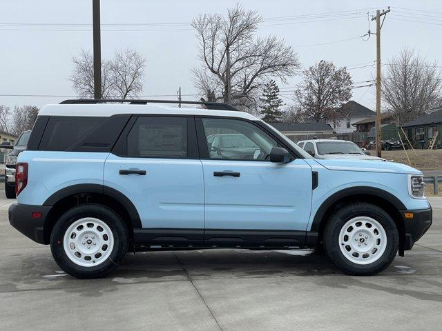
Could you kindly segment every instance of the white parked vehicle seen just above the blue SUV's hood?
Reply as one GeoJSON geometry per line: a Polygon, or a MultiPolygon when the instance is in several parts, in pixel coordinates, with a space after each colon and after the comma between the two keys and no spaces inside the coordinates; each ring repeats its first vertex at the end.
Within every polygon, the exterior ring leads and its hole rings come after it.
{"type": "Polygon", "coordinates": [[[381,157],[372,157],[369,152],[361,150],[352,141],[337,139],[311,139],[298,141],[303,148],[315,159],[361,159],[385,161],[381,157]]]}

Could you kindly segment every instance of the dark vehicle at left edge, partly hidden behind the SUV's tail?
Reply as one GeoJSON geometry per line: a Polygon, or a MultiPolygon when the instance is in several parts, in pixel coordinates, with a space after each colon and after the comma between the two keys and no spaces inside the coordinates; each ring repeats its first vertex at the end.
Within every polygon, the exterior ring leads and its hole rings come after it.
{"type": "Polygon", "coordinates": [[[28,139],[30,137],[30,130],[23,131],[17,139],[15,146],[0,146],[3,148],[12,149],[8,155],[6,155],[6,167],[5,167],[5,194],[8,199],[15,199],[15,163],[17,162],[17,156],[26,150],[28,139]]]}

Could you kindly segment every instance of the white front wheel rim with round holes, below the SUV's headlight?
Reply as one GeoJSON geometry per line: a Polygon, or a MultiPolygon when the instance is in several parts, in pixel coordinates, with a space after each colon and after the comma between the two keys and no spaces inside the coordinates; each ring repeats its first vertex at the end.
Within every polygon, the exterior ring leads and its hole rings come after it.
{"type": "Polygon", "coordinates": [[[339,247],[344,257],[353,263],[373,263],[387,248],[387,234],[375,219],[355,217],[340,230],[339,247]]]}

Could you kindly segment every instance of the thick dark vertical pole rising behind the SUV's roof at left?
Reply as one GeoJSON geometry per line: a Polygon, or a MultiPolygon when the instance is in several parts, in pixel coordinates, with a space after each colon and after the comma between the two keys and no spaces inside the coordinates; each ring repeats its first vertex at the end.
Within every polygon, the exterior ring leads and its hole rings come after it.
{"type": "Polygon", "coordinates": [[[92,0],[94,43],[94,98],[102,99],[102,45],[100,40],[99,0],[92,0]]]}

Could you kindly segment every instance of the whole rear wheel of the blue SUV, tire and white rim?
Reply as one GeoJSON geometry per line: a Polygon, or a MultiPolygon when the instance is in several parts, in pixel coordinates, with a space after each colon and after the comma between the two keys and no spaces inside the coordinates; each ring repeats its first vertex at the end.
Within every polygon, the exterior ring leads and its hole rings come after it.
{"type": "Polygon", "coordinates": [[[55,223],[50,236],[52,257],[73,277],[104,277],[117,268],[128,250],[122,219],[104,205],[71,208],[55,223]]]}

